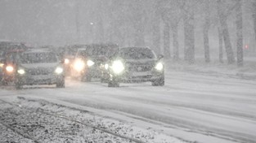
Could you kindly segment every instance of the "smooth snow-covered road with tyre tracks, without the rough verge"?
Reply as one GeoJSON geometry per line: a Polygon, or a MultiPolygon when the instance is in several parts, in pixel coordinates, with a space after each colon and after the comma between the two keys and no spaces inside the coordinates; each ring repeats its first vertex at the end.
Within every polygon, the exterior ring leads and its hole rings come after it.
{"type": "Polygon", "coordinates": [[[70,79],[65,89],[9,86],[1,88],[0,99],[43,98],[79,106],[185,141],[256,142],[256,80],[200,72],[166,72],[165,78],[164,87],[144,83],[108,88],[98,81],[70,79]]]}

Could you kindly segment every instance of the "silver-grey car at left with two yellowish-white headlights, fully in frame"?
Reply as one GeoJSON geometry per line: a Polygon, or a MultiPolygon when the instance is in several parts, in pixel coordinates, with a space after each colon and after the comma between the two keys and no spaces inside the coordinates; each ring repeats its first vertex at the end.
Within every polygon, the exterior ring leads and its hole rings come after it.
{"type": "Polygon", "coordinates": [[[51,50],[27,50],[17,59],[16,89],[22,89],[23,85],[56,85],[56,88],[65,88],[63,63],[51,50]]]}

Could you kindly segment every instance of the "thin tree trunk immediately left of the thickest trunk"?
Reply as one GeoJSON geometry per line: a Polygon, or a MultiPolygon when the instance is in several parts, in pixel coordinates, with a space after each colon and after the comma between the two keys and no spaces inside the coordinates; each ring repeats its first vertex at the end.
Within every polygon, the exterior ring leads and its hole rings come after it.
{"type": "Polygon", "coordinates": [[[177,24],[172,26],[173,28],[173,60],[177,61],[179,59],[178,52],[178,40],[177,40],[177,24]]]}

